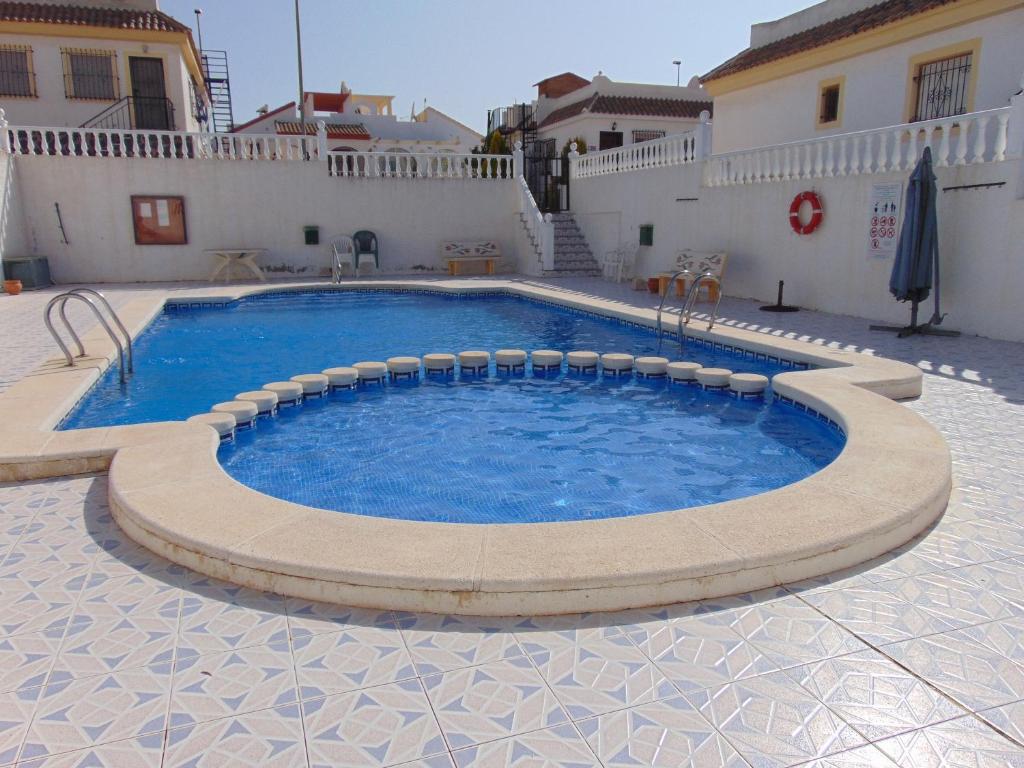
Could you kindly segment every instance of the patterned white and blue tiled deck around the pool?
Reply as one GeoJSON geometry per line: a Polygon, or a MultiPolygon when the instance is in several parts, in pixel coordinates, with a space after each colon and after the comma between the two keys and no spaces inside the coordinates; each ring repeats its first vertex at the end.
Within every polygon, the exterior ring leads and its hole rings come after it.
{"type": "MultiPolygon", "coordinates": [[[[0,390],[52,353],[49,295],[0,295],[0,390]]],[[[120,532],[104,476],[0,485],[0,766],[1024,767],[1024,345],[722,314],[930,374],[907,408],[952,450],[934,529],[814,584],[475,622],[171,565],[120,532]]]]}

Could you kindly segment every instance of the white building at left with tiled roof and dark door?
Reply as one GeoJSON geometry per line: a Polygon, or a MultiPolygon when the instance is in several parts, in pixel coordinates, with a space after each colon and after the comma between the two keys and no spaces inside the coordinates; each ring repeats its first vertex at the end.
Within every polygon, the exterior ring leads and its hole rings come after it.
{"type": "Polygon", "coordinates": [[[191,34],[158,0],[0,2],[11,123],[195,131],[208,103],[191,34]]]}

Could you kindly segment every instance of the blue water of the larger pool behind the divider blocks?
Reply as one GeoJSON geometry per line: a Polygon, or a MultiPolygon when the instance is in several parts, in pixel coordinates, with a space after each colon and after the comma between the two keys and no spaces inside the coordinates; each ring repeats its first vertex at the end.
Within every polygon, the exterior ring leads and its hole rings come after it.
{"type": "MultiPolygon", "coordinates": [[[[166,311],[135,343],[135,375],[116,366],[63,429],[186,419],[269,381],[391,355],[550,348],[653,354],[654,334],[512,296],[279,293],[226,308],[166,311]]],[[[677,351],[666,340],[670,355],[677,351]]],[[[782,370],[690,344],[686,358],[771,376],[782,370]]]]}

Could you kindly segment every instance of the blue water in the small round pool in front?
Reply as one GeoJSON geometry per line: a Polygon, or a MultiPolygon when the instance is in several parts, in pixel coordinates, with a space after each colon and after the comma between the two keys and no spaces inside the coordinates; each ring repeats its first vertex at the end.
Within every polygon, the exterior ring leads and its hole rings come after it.
{"type": "Polygon", "coordinates": [[[760,494],[825,466],[841,435],[796,409],[665,381],[517,376],[338,392],[221,446],[264,494],[463,523],[586,520],[760,494]]]}

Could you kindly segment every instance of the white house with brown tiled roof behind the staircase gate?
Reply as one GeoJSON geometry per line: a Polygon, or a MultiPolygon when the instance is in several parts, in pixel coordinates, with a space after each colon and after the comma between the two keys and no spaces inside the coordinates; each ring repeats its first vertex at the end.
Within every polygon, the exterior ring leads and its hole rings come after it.
{"type": "Polygon", "coordinates": [[[564,73],[537,84],[537,135],[559,152],[577,137],[593,152],[683,133],[706,110],[712,111],[712,99],[696,79],[677,87],[564,73]]]}

